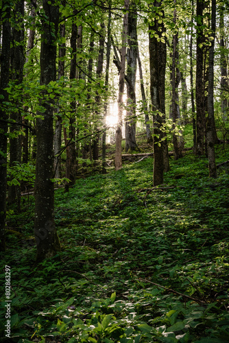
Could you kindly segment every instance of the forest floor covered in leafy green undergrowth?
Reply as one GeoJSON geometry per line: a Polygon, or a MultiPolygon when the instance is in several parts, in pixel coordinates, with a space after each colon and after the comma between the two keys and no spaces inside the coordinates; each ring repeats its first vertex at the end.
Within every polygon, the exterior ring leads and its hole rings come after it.
{"type": "MultiPolygon", "coordinates": [[[[229,146],[216,158],[228,161],[229,146]]],[[[229,169],[213,180],[205,156],[170,161],[158,188],[149,157],[56,190],[62,252],[38,265],[33,196],[10,209],[3,342],[229,342],[229,169]]],[[[0,278],[4,294],[5,268],[0,278]]]]}

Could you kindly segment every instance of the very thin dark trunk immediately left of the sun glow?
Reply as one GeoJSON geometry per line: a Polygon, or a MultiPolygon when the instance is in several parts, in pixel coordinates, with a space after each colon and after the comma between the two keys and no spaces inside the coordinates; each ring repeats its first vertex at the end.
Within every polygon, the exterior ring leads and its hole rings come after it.
{"type": "MultiPolygon", "coordinates": [[[[111,30],[111,10],[109,9],[108,15],[108,44],[106,47],[106,75],[105,75],[105,86],[106,92],[108,92],[108,82],[109,82],[109,68],[110,68],[110,49],[111,49],[111,42],[110,42],[110,30],[111,30]]],[[[105,102],[104,105],[104,132],[102,137],[102,173],[106,174],[106,115],[108,110],[108,102],[105,102]]]]}

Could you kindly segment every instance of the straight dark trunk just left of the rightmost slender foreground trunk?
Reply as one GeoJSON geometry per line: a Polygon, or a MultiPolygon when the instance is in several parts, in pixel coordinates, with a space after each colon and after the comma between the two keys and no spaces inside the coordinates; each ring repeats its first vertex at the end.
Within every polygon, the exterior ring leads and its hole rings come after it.
{"type": "Polygon", "coordinates": [[[203,33],[203,11],[204,1],[197,0],[197,40],[196,40],[196,81],[195,81],[195,99],[196,99],[196,146],[195,154],[204,154],[204,33],[203,33]]]}

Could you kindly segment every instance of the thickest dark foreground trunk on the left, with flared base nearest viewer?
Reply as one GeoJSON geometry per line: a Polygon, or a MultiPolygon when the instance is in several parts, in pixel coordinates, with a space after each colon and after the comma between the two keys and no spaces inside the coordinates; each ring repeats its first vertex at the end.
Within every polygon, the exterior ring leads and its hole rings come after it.
{"type": "MultiPolygon", "coordinates": [[[[40,84],[56,81],[56,45],[58,34],[59,8],[54,0],[43,0],[47,20],[43,22],[40,49],[40,84]]],[[[43,93],[40,105],[45,108],[43,119],[37,119],[37,154],[35,180],[34,234],[37,246],[36,261],[42,261],[60,251],[60,241],[54,221],[53,178],[53,100],[45,100],[43,93]]]]}

